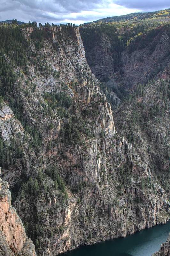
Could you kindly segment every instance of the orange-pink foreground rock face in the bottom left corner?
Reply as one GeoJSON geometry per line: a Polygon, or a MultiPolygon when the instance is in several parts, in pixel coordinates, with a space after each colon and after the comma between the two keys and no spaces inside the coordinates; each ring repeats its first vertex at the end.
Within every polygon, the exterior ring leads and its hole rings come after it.
{"type": "Polygon", "coordinates": [[[35,246],[15,208],[11,206],[8,183],[0,178],[0,255],[36,256],[35,246]]]}

